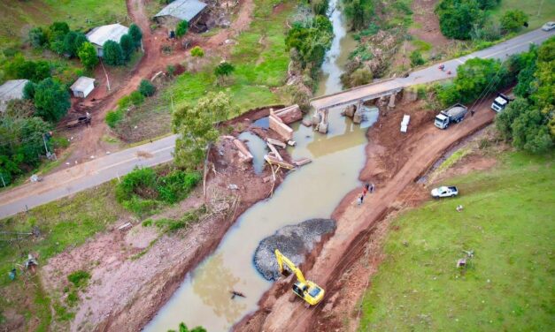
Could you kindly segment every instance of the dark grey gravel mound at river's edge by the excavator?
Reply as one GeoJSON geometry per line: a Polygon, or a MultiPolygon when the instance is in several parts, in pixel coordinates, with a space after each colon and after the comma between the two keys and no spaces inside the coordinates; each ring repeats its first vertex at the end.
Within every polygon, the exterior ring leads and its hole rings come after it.
{"type": "Polygon", "coordinates": [[[304,262],[306,253],[310,253],[322,236],[335,230],[332,219],[309,219],[303,223],[289,225],[277,230],[274,235],[260,241],[254,253],[254,266],[266,280],[280,277],[274,250],[279,249],[297,266],[304,262]]]}

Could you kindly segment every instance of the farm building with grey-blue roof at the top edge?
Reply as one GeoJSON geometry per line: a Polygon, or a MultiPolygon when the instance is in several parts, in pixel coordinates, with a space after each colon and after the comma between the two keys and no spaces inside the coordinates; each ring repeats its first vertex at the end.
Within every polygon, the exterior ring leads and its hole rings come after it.
{"type": "Polygon", "coordinates": [[[175,0],[154,15],[154,19],[166,26],[176,26],[177,23],[186,20],[189,26],[195,27],[205,9],[206,4],[202,1],[175,0]]]}

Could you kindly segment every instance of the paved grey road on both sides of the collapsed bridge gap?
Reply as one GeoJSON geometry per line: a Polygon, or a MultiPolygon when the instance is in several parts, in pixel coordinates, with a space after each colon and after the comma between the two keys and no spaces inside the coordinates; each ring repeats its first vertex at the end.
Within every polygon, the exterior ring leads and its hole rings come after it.
{"type": "MultiPolygon", "coordinates": [[[[444,64],[447,70],[451,70],[454,75],[457,71],[457,67],[460,64],[464,64],[469,58],[493,57],[505,59],[507,55],[528,50],[530,43],[541,43],[553,34],[555,34],[555,31],[546,33],[542,30],[535,30],[528,34],[515,37],[510,41],[500,43],[492,48],[483,49],[466,57],[459,57],[447,61],[444,64]]],[[[356,101],[367,94],[386,88],[397,86],[408,87],[413,84],[428,83],[445,78],[445,73],[440,72],[437,66],[434,65],[417,72],[412,72],[411,75],[405,79],[390,79],[381,84],[357,87],[339,94],[332,94],[317,99],[312,103],[316,103],[316,107],[322,107],[322,105],[337,102],[356,101]]],[[[66,197],[75,192],[81,192],[82,190],[103,184],[112,178],[127,174],[127,172],[133,170],[135,166],[154,166],[163,162],[169,162],[173,159],[172,152],[175,146],[175,138],[176,136],[172,135],[140,147],[132,147],[112,155],[98,157],[90,162],[85,162],[66,170],[60,170],[50,174],[44,177],[43,181],[40,183],[28,183],[26,185],[20,185],[8,192],[2,192],[0,193],[0,218],[15,215],[25,211],[26,208],[30,209],[66,197]],[[146,153],[146,155],[143,153],[146,153]]]]}

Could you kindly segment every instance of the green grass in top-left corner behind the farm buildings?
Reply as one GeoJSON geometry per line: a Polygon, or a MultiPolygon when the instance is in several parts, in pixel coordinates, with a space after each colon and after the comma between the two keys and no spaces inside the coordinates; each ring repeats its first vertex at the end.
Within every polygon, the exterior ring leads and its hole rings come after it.
{"type": "Polygon", "coordinates": [[[45,26],[56,20],[84,31],[125,18],[125,0],[4,0],[0,2],[0,42],[19,41],[26,37],[28,26],[45,26]]]}

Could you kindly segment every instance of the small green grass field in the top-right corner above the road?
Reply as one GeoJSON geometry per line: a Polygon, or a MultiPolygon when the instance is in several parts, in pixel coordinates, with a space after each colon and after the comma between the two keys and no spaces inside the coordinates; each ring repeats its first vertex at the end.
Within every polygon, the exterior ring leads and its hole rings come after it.
{"type": "Polygon", "coordinates": [[[528,14],[528,29],[536,29],[547,21],[555,20],[555,1],[553,0],[501,0],[501,4],[491,11],[491,14],[500,19],[505,11],[520,9],[528,14]]]}

